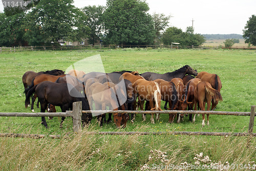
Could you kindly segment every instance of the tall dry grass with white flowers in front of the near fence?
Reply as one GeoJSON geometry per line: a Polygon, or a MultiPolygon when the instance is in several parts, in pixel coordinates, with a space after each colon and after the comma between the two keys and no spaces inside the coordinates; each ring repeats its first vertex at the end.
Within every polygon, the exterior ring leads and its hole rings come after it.
{"type": "Polygon", "coordinates": [[[164,170],[161,168],[216,163],[221,169],[227,163],[248,166],[256,159],[255,139],[247,147],[246,137],[87,134],[91,129],[62,139],[1,138],[0,169],[164,170]]]}

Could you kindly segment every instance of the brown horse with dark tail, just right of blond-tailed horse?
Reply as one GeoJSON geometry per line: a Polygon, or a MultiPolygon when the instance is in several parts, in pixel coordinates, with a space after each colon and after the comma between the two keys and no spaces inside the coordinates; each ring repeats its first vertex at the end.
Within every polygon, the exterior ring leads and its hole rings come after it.
{"type": "MultiPolygon", "coordinates": [[[[161,92],[161,100],[165,101],[164,109],[165,110],[175,110],[178,106],[178,92],[175,87],[174,82],[165,81],[163,79],[155,79],[155,82],[159,84],[161,92]],[[167,108],[167,103],[169,103],[169,108],[167,108]]],[[[159,119],[159,115],[157,116],[159,119]]],[[[169,123],[172,123],[175,118],[175,115],[169,114],[169,123]]]]}

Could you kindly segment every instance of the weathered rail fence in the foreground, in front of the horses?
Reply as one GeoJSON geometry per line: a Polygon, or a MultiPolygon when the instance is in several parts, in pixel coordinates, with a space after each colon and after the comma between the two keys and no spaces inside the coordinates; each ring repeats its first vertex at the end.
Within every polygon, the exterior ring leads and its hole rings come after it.
{"type": "MultiPolygon", "coordinates": [[[[218,132],[87,132],[86,134],[103,134],[103,135],[210,135],[210,136],[256,136],[253,133],[253,124],[256,106],[251,106],[251,112],[221,112],[221,111],[82,111],[82,103],[74,102],[73,111],[65,113],[0,113],[0,116],[7,117],[72,117],[73,131],[78,133],[81,130],[82,113],[131,113],[131,114],[210,114],[210,115],[234,115],[234,116],[250,116],[248,133],[218,133],[218,132]]],[[[0,137],[29,137],[26,134],[0,134],[0,137]]],[[[31,135],[31,137],[44,138],[44,135],[31,135]]],[[[52,136],[52,138],[59,138],[52,136]]]]}

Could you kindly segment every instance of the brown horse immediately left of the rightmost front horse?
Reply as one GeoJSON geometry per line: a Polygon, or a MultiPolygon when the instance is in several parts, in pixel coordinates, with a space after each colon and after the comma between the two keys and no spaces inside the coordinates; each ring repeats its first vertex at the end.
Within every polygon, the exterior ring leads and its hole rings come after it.
{"type": "MultiPolygon", "coordinates": [[[[188,110],[192,110],[194,106],[194,92],[197,87],[197,84],[201,82],[199,78],[193,78],[186,84],[186,89],[184,92],[183,100],[181,102],[180,109],[185,111],[187,108],[188,110]]],[[[193,122],[195,122],[196,115],[194,115],[193,122]]],[[[192,114],[189,114],[189,120],[192,122],[192,114]]]]}

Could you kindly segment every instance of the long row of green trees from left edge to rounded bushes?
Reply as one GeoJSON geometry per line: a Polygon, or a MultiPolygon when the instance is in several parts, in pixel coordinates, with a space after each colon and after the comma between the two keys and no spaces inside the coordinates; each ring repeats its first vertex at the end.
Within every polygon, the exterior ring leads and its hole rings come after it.
{"type": "Polygon", "coordinates": [[[73,0],[33,1],[26,10],[0,13],[0,47],[58,45],[63,41],[105,45],[200,46],[205,41],[192,27],[169,27],[172,16],[149,14],[144,0],[107,0],[106,6],[76,8],[73,0]]]}

